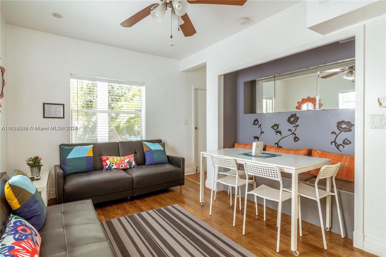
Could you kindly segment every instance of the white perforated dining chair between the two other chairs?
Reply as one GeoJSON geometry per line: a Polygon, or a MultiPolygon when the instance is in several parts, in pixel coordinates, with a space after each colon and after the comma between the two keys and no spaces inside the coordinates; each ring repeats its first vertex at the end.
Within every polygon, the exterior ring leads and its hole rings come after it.
{"type": "MultiPolygon", "coordinates": [[[[259,196],[264,199],[264,221],[266,220],[266,199],[271,201],[278,202],[278,218],[276,220],[276,226],[278,227],[278,242],[276,244],[276,252],[279,252],[280,245],[280,223],[281,223],[281,205],[283,201],[291,199],[291,193],[283,191],[283,181],[281,179],[281,173],[279,169],[275,166],[267,166],[267,165],[257,165],[252,163],[244,163],[244,170],[247,174],[247,183],[248,183],[248,175],[258,176],[262,178],[269,178],[279,181],[280,189],[271,188],[262,184],[252,191],[245,190],[245,199],[247,199],[247,194],[253,194],[255,197],[259,196]]],[[[247,215],[247,201],[244,203],[244,222],[242,234],[245,235],[245,219],[247,215]]],[[[257,215],[257,209],[256,209],[257,215]]],[[[301,227],[300,227],[301,233],[301,227]]]]}

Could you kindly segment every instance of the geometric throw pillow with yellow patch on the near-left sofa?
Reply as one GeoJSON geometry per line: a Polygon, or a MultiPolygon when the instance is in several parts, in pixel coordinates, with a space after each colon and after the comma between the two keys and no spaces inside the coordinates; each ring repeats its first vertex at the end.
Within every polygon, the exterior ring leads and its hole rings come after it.
{"type": "Polygon", "coordinates": [[[32,181],[22,171],[16,171],[4,188],[5,198],[13,213],[39,230],[46,221],[46,205],[32,181]]]}

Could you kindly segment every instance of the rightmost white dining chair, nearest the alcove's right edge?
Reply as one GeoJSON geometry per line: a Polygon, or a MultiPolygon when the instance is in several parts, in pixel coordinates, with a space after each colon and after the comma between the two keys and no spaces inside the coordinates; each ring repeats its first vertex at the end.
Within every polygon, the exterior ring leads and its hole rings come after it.
{"type": "MultiPolygon", "coordinates": [[[[312,199],[317,201],[318,203],[318,209],[319,209],[319,218],[320,218],[320,227],[322,228],[322,237],[323,237],[323,244],[324,249],[327,250],[327,244],[326,244],[326,237],[324,235],[324,225],[323,225],[323,217],[322,217],[322,209],[320,208],[320,199],[327,197],[329,195],[335,195],[335,201],[337,203],[337,210],[338,210],[338,217],[339,217],[339,225],[340,225],[340,233],[342,235],[342,238],[344,238],[343,235],[343,226],[342,226],[342,218],[340,216],[340,207],[339,207],[339,200],[338,200],[338,191],[335,184],[335,176],[337,175],[339,168],[340,168],[340,162],[334,165],[325,165],[323,166],[318,176],[315,180],[315,187],[299,183],[298,184],[298,196],[299,198],[301,196],[304,196],[306,198],[312,199]],[[320,179],[330,179],[332,177],[332,183],[334,184],[334,193],[325,191],[323,189],[318,188],[318,181],[320,179]]],[[[291,193],[291,188],[284,188],[285,191],[288,191],[291,193]]],[[[300,201],[299,201],[299,216],[300,216],[300,201]]],[[[300,216],[301,217],[301,216],[300,216]]],[[[301,219],[299,218],[299,225],[301,224],[301,219]]],[[[329,229],[329,228],[328,228],[329,229]]]]}

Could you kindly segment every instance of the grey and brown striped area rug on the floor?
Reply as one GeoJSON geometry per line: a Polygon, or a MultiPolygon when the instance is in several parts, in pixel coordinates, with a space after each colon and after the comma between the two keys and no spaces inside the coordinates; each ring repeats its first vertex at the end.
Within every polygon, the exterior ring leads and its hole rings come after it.
{"type": "Polygon", "coordinates": [[[255,256],[178,205],[102,225],[119,257],[255,256]]]}

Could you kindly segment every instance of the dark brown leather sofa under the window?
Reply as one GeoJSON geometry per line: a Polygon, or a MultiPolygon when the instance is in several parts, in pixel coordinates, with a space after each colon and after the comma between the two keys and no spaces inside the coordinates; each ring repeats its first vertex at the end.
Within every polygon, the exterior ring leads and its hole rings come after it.
{"type": "Polygon", "coordinates": [[[145,165],[143,141],[162,143],[161,139],[155,139],[61,144],[63,146],[94,145],[94,171],[64,176],[61,166],[55,165],[55,189],[58,203],[83,199],[100,203],[185,184],[185,159],[168,156],[169,163],[145,165]],[[102,155],[127,156],[130,154],[134,154],[137,167],[103,170],[102,155]]]}

